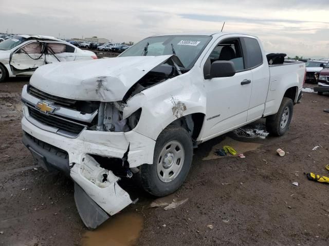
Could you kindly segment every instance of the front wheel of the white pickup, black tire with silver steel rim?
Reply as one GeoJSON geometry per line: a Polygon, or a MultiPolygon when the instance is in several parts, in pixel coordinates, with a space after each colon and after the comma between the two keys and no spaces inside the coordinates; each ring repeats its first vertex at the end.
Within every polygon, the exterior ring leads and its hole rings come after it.
{"type": "Polygon", "coordinates": [[[186,129],[169,126],[158,136],[153,164],[140,168],[143,189],[154,196],[167,196],[185,181],[193,157],[192,139],[186,129]]]}

